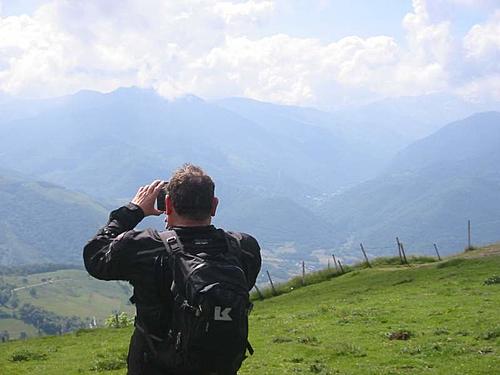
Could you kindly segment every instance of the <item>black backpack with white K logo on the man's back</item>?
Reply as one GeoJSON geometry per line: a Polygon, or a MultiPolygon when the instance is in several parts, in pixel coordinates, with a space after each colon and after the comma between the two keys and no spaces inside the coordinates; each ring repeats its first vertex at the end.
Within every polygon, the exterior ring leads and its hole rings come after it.
{"type": "Polygon", "coordinates": [[[183,246],[175,231],[160,233],[173,306],[156,357],[176,374],[234,375],[246,350],[253,354],[248,342],[252,304],[239,241],[222,230],[217,234],[217,239],[193,239],[183,246]]]}

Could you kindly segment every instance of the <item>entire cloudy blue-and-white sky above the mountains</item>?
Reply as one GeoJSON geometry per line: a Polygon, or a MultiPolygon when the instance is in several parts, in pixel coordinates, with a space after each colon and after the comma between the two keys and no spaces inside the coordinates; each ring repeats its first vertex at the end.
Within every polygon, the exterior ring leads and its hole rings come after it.
{"type": "Polygon", "coordinates": [[[500,0],[0,0],[0,92],[500,102],[500,0]]]}

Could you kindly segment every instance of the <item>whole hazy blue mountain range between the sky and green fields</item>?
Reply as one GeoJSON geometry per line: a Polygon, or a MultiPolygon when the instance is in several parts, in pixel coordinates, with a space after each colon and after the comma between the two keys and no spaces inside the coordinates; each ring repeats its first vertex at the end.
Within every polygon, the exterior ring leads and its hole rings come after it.
{"type": "MultiPolygon", "coordinates": [[[[468,219],[500,219],[500,115],[452,121],[478,109],[429,96],[327,113],[245,98],[166,100],[138,88],[4,97],[1,203],[16,215],[2,215],[0,264],[50,254],[79,261],[110,208],[184,162],[214,177],[215,224],[254,234],[271,269],[325,261],[332,251],[356,258],[361,241],[370,254],[393,252],[395,236],[414,251],[438,243],[452,252],[468,219]],[[71,239],[46,238],[56,233],[71,239]]],[[[493,223],[481,225],[478,239],[498,239],[493,223]]]]}

